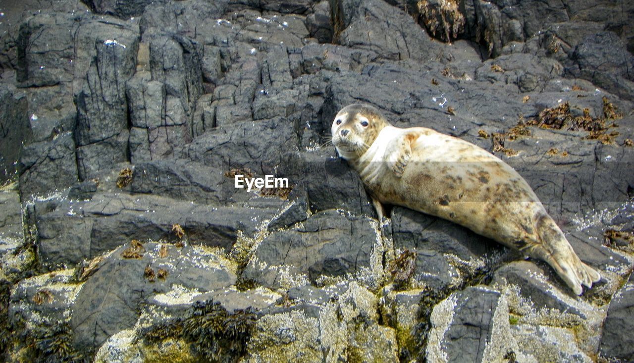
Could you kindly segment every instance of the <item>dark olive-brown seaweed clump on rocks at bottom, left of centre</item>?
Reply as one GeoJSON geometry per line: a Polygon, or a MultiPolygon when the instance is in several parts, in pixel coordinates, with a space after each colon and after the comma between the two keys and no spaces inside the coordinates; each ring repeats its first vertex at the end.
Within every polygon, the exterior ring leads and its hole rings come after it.
{"type": "Polygon", "coordinates": [[[145,328],[141,334],[150,342],[182,338],[190,342],[192,352],[205,361],[238,362],[246,353],[255,323],[252,308],[230,313],[219,303],[206,301],[196,302],[186,317],[145,328]]]}

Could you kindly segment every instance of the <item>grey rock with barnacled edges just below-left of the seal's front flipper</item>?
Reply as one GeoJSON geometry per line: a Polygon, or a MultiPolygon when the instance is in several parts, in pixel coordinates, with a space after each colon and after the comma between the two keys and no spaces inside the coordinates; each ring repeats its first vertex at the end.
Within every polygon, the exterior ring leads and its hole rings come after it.
{"type": "Polygon", "coordinates": [[[271,288],[297,286],[323,275],[349,274],[374,283],[382,274],[383,250],[369,220],[325,211],[260,242],[243,277],[271,288]]]}

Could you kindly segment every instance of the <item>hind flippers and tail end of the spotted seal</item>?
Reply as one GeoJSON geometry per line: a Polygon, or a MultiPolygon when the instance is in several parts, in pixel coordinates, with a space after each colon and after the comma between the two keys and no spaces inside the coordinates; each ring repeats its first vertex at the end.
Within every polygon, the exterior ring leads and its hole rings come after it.
{"type": "Polygon", "coordinates": [[[590,267],[574,253],[564,233],[548,215],[539,217],[536,229],[541,243],[535,246],[539,251],[533,251],[545,260],[559,274],[576,295],[581,295],[583,288],[592,287],[601,279],[601,275],[593,267],[590,267]]]}

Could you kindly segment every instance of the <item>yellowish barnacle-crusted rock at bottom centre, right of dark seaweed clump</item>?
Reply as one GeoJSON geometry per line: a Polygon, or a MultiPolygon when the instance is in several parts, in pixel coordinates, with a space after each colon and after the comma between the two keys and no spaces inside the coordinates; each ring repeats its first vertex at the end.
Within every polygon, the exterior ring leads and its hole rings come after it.
{"type": "Polygon", "coordinates": [[[309,302],[311,298],[260,317],[245,361],[322,362],[352,357],[363,362],[398,362],[394,330],[377,324],[376,296],[354,282],[333,289],[337,300],[309,302]]]}

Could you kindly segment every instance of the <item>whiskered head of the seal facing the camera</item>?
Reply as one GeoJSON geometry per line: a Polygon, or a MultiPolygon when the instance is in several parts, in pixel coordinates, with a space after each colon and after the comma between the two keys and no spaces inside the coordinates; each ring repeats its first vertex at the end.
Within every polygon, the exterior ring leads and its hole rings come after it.
{"type": "Polygon", "coordinates": [[[332,122],[332,143],[348,161],[363,155],[389,122],[374,106],[353,103],[342,108],[332,122]]]}

